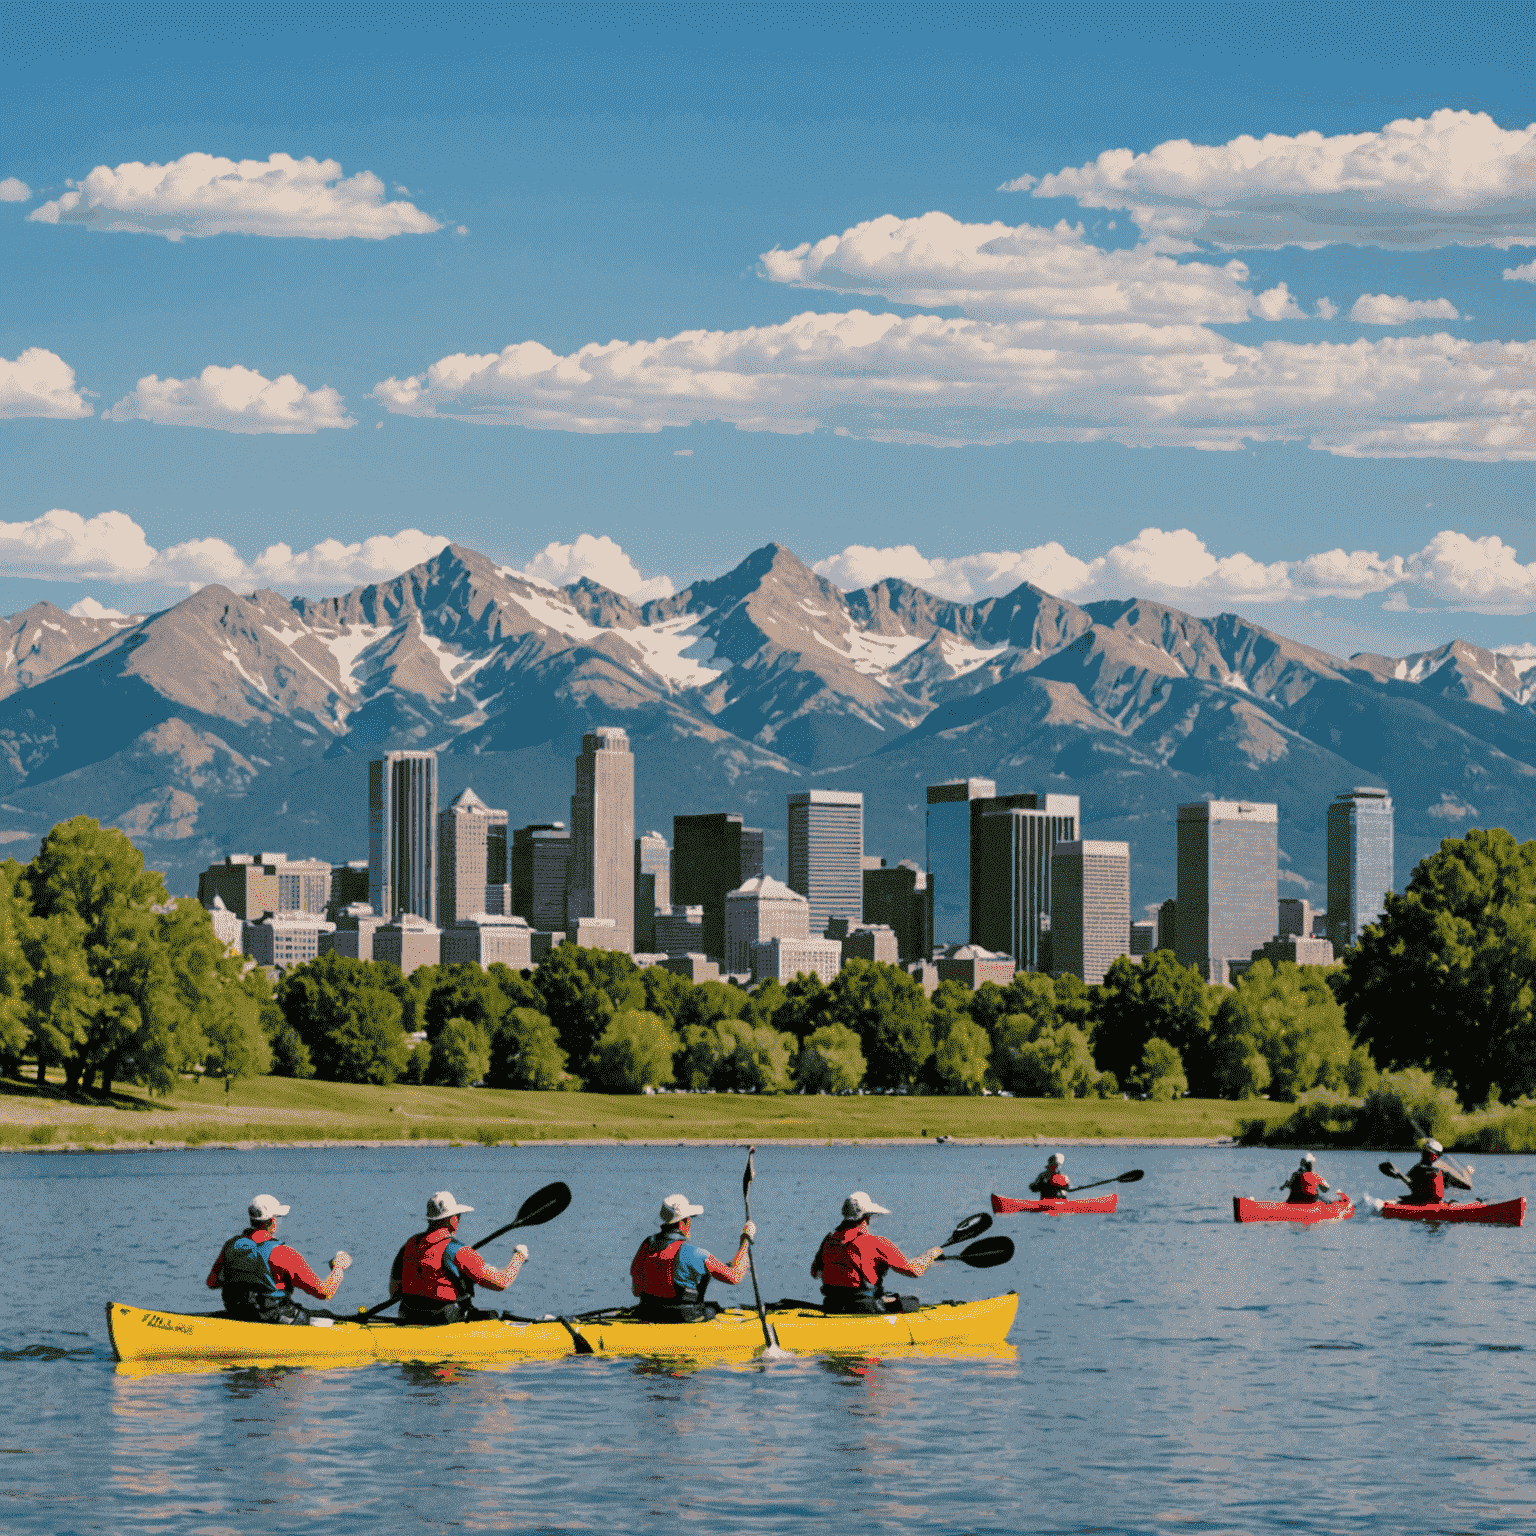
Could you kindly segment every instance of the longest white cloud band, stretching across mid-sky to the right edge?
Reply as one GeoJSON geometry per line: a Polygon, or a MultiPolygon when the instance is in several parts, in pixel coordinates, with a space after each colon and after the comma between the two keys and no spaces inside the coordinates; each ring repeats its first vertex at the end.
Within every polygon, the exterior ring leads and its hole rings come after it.
{"type": "Polygon", "coordinates": [[[376,384],[395,413],[564,432],[728,421],[935,445],[1098,441],[1352,456],[1536,456],[1536,343],[1247,346],[1201,326],[796,315],[736,332],[456,353],[376,384]]]}

